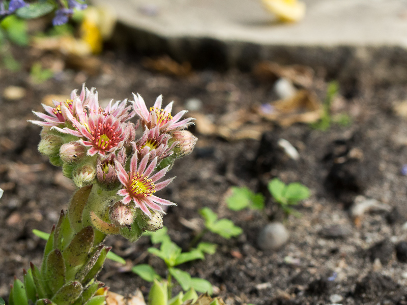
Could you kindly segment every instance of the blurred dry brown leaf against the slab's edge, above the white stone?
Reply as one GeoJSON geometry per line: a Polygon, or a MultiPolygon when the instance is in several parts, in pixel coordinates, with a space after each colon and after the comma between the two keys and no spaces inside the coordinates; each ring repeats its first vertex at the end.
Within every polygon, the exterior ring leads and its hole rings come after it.
{"type": "Polygon", "coordinates": [[[269,61],[257,64],[253,69],[253,74],[261,81],[275,81],[278,78],[286,78],[306,88],[312,85],[314,77],[314,71],[310,67],[301,65],[280,66],[269,61]]]}

